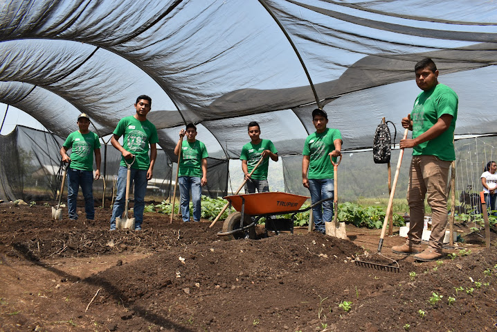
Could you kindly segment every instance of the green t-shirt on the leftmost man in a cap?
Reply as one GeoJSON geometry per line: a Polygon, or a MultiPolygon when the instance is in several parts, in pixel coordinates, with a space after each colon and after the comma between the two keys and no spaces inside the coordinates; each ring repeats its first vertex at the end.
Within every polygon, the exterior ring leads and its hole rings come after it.
{"type": "Polygon", "coordinates": [[[71,132],[64,142],[64,148],[71,151],[71,168],[80,171],[93,171],[93,151],[100,149],[98,135],[94,132],[82,134],[71,132]]]}

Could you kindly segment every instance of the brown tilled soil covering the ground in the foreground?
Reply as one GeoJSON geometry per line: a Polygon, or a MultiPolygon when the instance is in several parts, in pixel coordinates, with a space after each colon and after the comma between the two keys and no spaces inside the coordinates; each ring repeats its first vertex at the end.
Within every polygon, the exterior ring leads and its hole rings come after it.
{"type": "Polygon", "coordinates": [[[396,259],[395,273],[354,264],[377,252],[379,230],[347,225],[345,241],[260,227],[224,241],[222,221],[145,213],[143,231],[111,232],[110,214],[55,221],[51,207],[0,204],[0,331],[496,329],[494,233],[488,250],[471,234],[429,263],[392,254],[404,238],[386,237],[387,258],[368,261],[396,259]]]}

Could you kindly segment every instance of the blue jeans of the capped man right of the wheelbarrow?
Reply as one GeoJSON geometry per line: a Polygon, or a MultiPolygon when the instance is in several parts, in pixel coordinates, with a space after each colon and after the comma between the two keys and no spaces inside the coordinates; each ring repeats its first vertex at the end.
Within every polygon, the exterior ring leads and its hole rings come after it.
{"type": "MultiPolygon", "coordinates": [[[[319,202],[327,198],[333,198],[334,184],[333,179],[309,179],[309,191],[311,191],[311,202],[319,202]]],[[[325,221],[333,219],[333,200],[328,200],[312,208],[314,225],[316,231],[325,233],[325,221]]]]}

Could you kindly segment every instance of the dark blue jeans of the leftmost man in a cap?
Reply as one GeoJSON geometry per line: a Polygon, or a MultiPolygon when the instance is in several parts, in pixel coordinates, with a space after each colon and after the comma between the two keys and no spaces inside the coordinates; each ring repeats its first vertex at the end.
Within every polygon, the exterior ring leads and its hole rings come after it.
{"type": "Polygon", "coordinates": [[[93,220],[95,218],[93,171],[80,171],[73,168],[67,170],[67,207],[69,209],[69,219],[78,219],[76,203],[78,201],[80,186],[84,197],[84,212],[87,214],[87,219],[93,220]]]}

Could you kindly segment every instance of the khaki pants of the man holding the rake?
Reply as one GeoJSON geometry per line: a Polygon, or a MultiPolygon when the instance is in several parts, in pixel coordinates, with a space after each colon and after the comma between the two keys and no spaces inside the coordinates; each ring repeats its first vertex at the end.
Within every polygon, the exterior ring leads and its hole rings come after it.
{"type": "Polygon", "coordinates": [[[410,162],[407,202],[410,209],[408,238],[420,243],[424,226],[424,198],[431,207],[431,236],[428,243],[437,252],[442,252],[442,241],[447,225],[447,184],[451,161],[431,155],[413,156],[410,162]]]}

